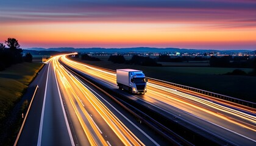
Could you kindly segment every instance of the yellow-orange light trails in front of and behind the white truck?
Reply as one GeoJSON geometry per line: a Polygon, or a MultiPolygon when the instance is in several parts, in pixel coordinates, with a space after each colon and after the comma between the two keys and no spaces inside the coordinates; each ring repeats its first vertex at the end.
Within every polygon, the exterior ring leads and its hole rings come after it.
{"type": "MultiPolygon", "coordinates": [[[[78,71],[84,72],[85,74],[90,75],[92,77],[96,77],[99,80],[102,80],[104,82],[108,82],[108,83],[111,83],[112,85],[116,85],[116,74],[111,72],[111,71],[102,70],[101,68],[97,68],[95,66],[90,66],[89,64],[77,63],[76,61],[69,60],[66,57],[62,57],[61,60],[65,64],[67,64],[68,66],[71,66],[71,68],[77,69],[78,71]]],[[[173,89],[166,88],[162,83],[158,83],[158,85],[156,85],[154,83],[148,83],[148,86],[149,86],[148,92],[153,92],[153,91],[156,92],[155,89],[159,89],[160,91],[164,92],[164,94],[159,93],[158,96],[154,97],[157,100],[160,100],[160,101],[164,102],[164,98],[170,98],[170,96],[168,96],[170,93],[175,94],[175,95],[177,95],[181,98],[186,98],[186,99],[189,99],[189,100],[193,100],[194,102],[200,103],[201,105],[208,106],[211,110],[216,109],[218,111],[222,111],[222,112],[227,113],[227,114],[232,114],[233,116],[240,117],[241,119],[252,122],[253,124],[251,125],[249,123],[244,123],[244,122],[241,122],[241,121],[240,122],[237,122],[237,121],[234,122],[234,121],[230,120],[227,117],[219,116],[219,114],[213,114],[212,111],[209,111],[208,109],[205,109],[205,108],[201,108],[201,106],[193,105],[193,103],[185,103],[185,102],[182,102],[181,100],[179,100],[179,102],[182,103],[182,104],[186,104],[186,105],[189,105],[193,108],[200,109],[201,111],[203,111],[205,113],[212,113],[212,115],[215,116],[215,117],[219,117],[222,120],[226,120],[227,122],[231,122],[231,123],[234,123],[236,125],[240,125],[241,127],[248,128],[249,130],[255,131],[255,129],[256,129],[255,128],[256,118],[255,118],[255,116],[253,116],[251,114],[243,113],[243,112],[238,111],[236,109],[232,109],[232,108],[229,108],[229,107],[226,107],[226,106],[222,106],[222,105],[219,105],[217,103],[213,103],[213,102],[210,102],[210,101],[205,100],[205,99],[201,99],[201,98],[196,97],[196,96],[192,96],[192,95],[189,95],[189,94],[185,94],[183,92],[178,92],[178,91],[175,91],[173,89]],[[161,96],[159,96],[159,95],[161,95],[161,96]],[[248,126],[248,125],[250,125],[250,126],[248,126]]],[[[167,103],[167,104],[171,105],[171,103],[167,103]]],[[[240,107],[236,107],[236,108],[239,109],[240,107]]],[[[190,111],[187,111],[187,112],[190,113],[190,111]]],[[[254,111],[250,111],[250,112],[254,113],[254,111]]]]}

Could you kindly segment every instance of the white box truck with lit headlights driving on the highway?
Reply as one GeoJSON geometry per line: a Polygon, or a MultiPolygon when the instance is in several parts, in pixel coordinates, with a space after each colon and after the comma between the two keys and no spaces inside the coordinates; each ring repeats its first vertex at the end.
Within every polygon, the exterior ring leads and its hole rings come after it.
{"type": "Polygon", "coordinates": [[[142,71],[135,69],[116,69],[116,83],[119,89],[132,93],[147,92],[147,78],[142,71]]]}

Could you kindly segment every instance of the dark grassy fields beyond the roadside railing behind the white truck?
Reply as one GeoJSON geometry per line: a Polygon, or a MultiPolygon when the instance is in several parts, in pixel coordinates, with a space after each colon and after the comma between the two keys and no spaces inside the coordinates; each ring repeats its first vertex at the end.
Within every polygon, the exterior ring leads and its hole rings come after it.
{"type": "MultiPolygon", "coordinates": [[[[79,58],[73,60],[82,61],[102,68],[118,69],[132,68],[144,72],[147,77],[157,78],[180,85],[191,86],[206,91],[216,92],[226,96],[235,97],[251,102],[256,102],[255,83],[256,77],[244,75],[223,75],[232,72],[236,68],[211,68],[211,67],[176,67],[176,66],[138,66],[134,64],[115,64],[107,61],[105,56],[96,56],[102,61],[85,61],[79,58]]],[[[241,68],[244,72],[252,69],[241,68]]]]}

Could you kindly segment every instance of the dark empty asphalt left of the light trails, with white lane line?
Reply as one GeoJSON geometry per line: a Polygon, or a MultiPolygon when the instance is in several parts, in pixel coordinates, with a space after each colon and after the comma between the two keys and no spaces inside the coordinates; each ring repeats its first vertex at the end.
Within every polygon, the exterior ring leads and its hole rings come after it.
{"type": "Polygon", "coordinates": [[[74,145],[52,61],[35,79],[39,89],[18,145],[74,145]]]}

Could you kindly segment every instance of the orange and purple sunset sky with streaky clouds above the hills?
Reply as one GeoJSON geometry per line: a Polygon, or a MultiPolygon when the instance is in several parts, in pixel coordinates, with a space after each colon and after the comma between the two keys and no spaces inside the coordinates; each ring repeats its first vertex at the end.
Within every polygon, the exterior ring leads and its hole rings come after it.
{"type": "Polygon", "coordinates": [[[9,0],[0,43],[256,50],[255,0],[9,0]]]}

